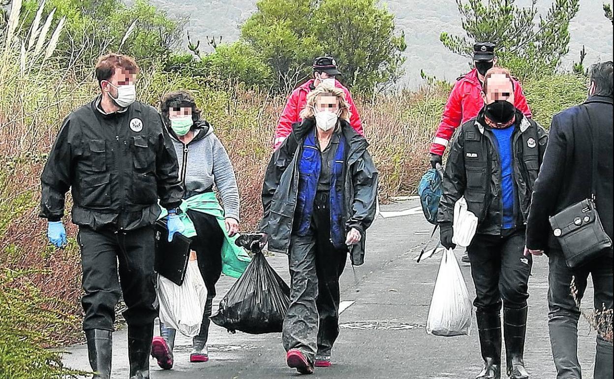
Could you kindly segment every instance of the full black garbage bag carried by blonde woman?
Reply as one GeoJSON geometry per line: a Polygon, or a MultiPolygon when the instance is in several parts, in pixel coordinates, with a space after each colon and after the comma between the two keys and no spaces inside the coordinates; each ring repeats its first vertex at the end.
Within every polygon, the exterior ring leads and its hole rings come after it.
{"type": "Polygon", "coordinates": [[[281,332],[290,303],[290,288],[262,251],[255,250],[252,262],[220,302],[217,315],[211,316],[211,321],[232,333],[281,332]]]}

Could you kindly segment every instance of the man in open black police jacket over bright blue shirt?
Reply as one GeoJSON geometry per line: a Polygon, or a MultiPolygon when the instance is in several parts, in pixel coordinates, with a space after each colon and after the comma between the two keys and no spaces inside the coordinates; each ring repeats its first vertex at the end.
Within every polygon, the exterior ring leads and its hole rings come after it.
{"type": "Polygon", "coordinates": [[[526,379],[523,354],[532,261],[523,256],[524,225],[548,135],[514,107],[514,82],[506,69],[486,72],[482,96],[483,109],[462,125],[446,162],[438,213],[441,244],[456,247],[454,205],[464,196],[468,210],[478,217],[476,235],[467,247],[484,359],[476,378],[500,378],[503,305],[507,373],[526,379]]]}

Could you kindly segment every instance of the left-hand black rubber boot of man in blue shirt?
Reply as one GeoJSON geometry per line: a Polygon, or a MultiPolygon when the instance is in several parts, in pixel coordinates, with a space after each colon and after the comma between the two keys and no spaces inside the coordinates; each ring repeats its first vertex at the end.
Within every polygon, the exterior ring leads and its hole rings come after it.
{"type": "Polygon", "coordinates": [[[499,311],[476,311],[484,368],[476,379],[501,378],[501,318],[499,311]]]}

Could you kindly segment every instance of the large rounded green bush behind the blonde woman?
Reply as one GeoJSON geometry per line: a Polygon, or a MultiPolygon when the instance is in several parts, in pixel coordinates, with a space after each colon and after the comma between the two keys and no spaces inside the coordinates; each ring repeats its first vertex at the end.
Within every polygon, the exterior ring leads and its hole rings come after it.
{"type": "Polygon", "coordinates": [[[373,93],[402,74],[405,35],[395,34],[394,15],[376,0],[260,0],[256,6],[241,37],[273,68],[282,92],[308,77],[313,58],[325,53],[337,58],[343,83],[354,92],[373,93]]]}

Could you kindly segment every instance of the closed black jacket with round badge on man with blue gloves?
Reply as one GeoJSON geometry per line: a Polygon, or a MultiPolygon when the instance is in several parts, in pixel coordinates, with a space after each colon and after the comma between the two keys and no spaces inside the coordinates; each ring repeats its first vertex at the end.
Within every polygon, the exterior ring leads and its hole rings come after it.
{"type": "Polygon", "coordinates": [[[99,97],[66,117],[41,175],[40,216],[60,221],[71,189],[72,222],[124,230],[152,224],[183,189],[177,157],[155,108],[135,102],[103,114],[99,97]]]}

